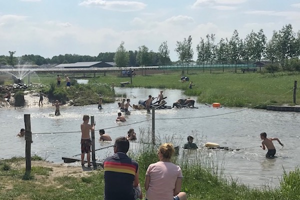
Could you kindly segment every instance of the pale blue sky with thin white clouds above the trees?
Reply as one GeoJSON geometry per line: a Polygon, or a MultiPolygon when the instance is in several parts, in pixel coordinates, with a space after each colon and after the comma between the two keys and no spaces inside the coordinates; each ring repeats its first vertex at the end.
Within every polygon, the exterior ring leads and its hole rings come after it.
{"type": "Polygon", "coordinates": [[[206,34],[240,38],[290,23],[300,29],[300,0],[0,0],[0,55],[59,54],[97,56],[145,45],[154,52],[167,41],[170,59],[178,59],[176,41],[206,34]]]}

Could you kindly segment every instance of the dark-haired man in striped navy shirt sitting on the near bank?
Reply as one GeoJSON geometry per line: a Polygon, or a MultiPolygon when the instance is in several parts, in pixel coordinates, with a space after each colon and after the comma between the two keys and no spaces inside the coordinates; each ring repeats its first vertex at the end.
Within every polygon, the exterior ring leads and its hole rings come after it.
{"type": "Polygon", "coordinates": [[[114,154],[103,162],[105,200],[142,199],[138,163],[126,155],[128,149],[126,137],[117,137],[113,145],[114,154]]]}

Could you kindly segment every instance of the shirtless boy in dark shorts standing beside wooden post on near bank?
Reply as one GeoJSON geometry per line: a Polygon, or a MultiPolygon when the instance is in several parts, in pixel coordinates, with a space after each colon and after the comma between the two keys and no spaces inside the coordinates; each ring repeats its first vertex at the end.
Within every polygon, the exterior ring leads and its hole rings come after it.
{"type": "Polygon", "coordinates": [[[81,129],[81,166],[84,166],[84,153],[86,153],[87,167],[90,167],[90,146],[91,140],[89,136],[89,130],[93,131],[95,129],[95,123],[89,124],[89,116],[83,115],[83,123],[80,125],[81,129]]]}

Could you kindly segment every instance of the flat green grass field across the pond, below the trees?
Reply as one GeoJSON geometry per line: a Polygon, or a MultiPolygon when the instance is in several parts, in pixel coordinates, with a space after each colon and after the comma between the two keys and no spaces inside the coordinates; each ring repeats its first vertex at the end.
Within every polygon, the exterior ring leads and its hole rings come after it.
{"type": "MultiPolygon", "coordinates": [[[[220,102],[224,106],[265,107],[267,104],[293,105],[294,80],[300,79],[298,73],[284,72],[270,74],[214,71],[210,74],[192,70],[185,75],[195,84],[192,89],[188,88],[188,81],[179,81],[179,72],[138,75],[133,77],[132,84],[127,86],[183,89],[185,95],[197,96],[199,103],[220,102]]],[[[119,86],[119,82],[130,82],[130,78],[108,74],[100,78],[93,78],[91,81],[119,86]]],[[[300,98],[299,92],[296,97],[300,98]]]]}

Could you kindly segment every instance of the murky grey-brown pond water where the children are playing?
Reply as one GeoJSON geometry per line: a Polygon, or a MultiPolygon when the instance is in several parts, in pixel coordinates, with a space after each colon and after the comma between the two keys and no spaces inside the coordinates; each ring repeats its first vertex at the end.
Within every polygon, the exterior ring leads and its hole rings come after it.
{"type": "MultiPolygon", "coordinates": [[[[115,87],[115,90],[119,93],[125,92],[131,99],[131,104],[136,104],[139,99],[146,99],[149,94],[155,97],[159,93],[159,89],[145,88],[115,87]]],[[[165,89],[163,94],[167,96],[165,99],[167,105],[184,97],[180,90],[165,89]]],[[[37,96],[25,96],[26,98],[31,105],[36,105],[38,102],[37,96]]],[[[15,136],[20,128],[24,127],[24,114],[31,116],[33,133],[53,132],[52,134],[33,134],[31,153],[54,162],[62,162],[62,156],[80,153],[79,131],[83,114],[94,115],[96,129],[104,128],[112,139],[117,136],[125,136],[129,128],[135,129],[137,139],[139,139],[139,128],[151,128],[151,114],[146,114],[145,110],[134,110],[131,115],[125,115],[127,122],[117,123],[115,122],[119,111],[117,102],[102,106],[103,109],[98,110],[97,104],[63,105],[60,107],[60,116],[53,116],[55,108],[50,104],[43,107],[1,109],[0,157],[24,156],[24,138],[15,136]],[[148,121],[138,123],[143,120],[148,121]]],[[[186,137],[192,135],[198,146],[209,141],[230,148],[244,148],[239,151],[215,150],[211,154],[216,157],[217,162],[224,162],[226,175],[231,175],[233,179],[250,185],[277,185],[283,168],[288,171],[294,169],[299,163],[300,135],[296,128],[300,123],[299,113],[228,107],[216,109],[203,104],[196,104],[196,106],[199,108],[155,110],[156,136],[162,139],[173,135],[175,142],[181,147],[186,142],[186,137]],[[259,134],[263,131],[267,133],[268,137],[278,137],[285,144],[281,149],[281,146],[274,141],[278,156],[275,159],[266,159],[264,157],[266,150],[259,147],[261,145],[259,134]]],[[[98,131],[95,132],[95,135],[96,138],[99,137],[98,131]]],[[[111,144],[111,142],[97,141],[95,148],[111,144]]],[[[111,153],[112,148],[98,150],[96,157],[103,159],[111,153]]]]}

